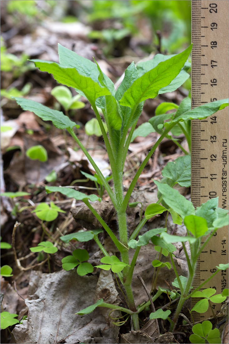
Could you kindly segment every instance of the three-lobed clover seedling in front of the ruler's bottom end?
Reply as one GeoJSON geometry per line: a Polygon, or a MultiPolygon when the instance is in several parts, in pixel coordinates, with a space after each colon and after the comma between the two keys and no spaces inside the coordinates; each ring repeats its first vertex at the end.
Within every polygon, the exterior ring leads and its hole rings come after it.
{"type": "MultiPolygon", "coordinates": [[[[216,269],[215,269],[216,270],[216,269]]],[[[194,294],[191,295],[192,298],[203,298],[202,300],[198,301],[195,306],[190,310],[190,312],[196,311],[197,313],[205,313],[208,310],[208,306],[210,305],[211,309],[211,302],[213,303],[221,303],[226,300],[227,296],[224,296],[223,294],[217,294],[216,290],[213,288],[207,288],[203,291],[196,291],[194,294]],[[212,296],[213,295],[213,296],[212,296]]],[[[225,293],[227,293],[225,291],[225,293]]],[[[214,314],[214,312],[213,312],[214,314]]]]}

